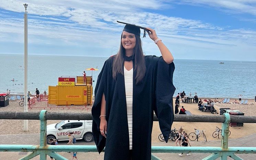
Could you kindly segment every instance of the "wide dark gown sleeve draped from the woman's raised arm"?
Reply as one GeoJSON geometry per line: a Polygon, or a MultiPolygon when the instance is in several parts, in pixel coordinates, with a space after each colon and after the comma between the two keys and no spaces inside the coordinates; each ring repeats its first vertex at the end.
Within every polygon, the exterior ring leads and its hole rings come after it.
{"type": "Polygon", "coordinates": [[[168,137],[171,130],[171,125],[174,120],[172,98],[176,90],[172,83],[174,73],[174,63],[167,64],[163,57],[154,57],[156,62],[155,67],[155,114],[159,121],[160,130],[163,133],[165,142],[168,142],[168,137]]]}

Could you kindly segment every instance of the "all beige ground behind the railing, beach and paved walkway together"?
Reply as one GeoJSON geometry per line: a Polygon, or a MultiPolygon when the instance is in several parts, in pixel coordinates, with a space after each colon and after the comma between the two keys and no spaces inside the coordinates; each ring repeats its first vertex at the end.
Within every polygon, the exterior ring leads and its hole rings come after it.
{"type": "MultiPolygon", "coordinates": [[[[0,108],[1,111],[23,111],[23,107],[18,105],[19,101],[11,101],[7,107],[0,108]]],[[[254,103],[252,100],[250,103],[254,103]]],[[[219,116],[217,114],[211,114],[210,112],[201,112],[198,110],[197,104],[180,103],[180,106],[184,106],[186,110],[189,110],[193,115],[211,115],[219,116]]],[[[239,105],[239,104],[216,104],[215,109],[219,108],[232,108],[238,109],[245,113],[246,116],[255,116],[256,105],[239,105]]],[[[81,109],[49,109],[49,112],[85,112],[88,113],[90,110],[81,109]]],[[[29,112],[39,112],[42,108],[29,109],[29,112]]],[[[47,124],[57,123],[60,120],[48,120],[47,124]]],[[[29,131],[23,132],[23,120],[4,120],[0,119],[0,144],[30,144],[39,145],[39,133],[40,133],[40,121],[29,120],[29,131]]],[[[194,129],[206,130],[207,142],[203,141],[203,137],[199,138],[198,142],[191,142],[192,146],[221,146],[221,140],[213,138],[212,133],[215,131],[215,127],[221,127],[222,123],[203,123],[203,122],[174,122],[172,129],[175,127],[179,129],[180,126],[187,132],[194,132],[194,129]]],[[[244,126],[230,127],[231,135],[229,136],[229,146],[240,146],[240,147],[256,147],[256,124],[255,123],[244,123],[244,126]]],[[[152,131],[152,146],[175,146],[175,142],[169,141],[168,143],[160,142],[158,135],[160,134],[158,122],[154,122],[152,131]]],[[[67,142],[59,142],[59,145],[66,145],[67,142]]],[[[78,140],[76,145],[94,145],[94,142],[85,143],[83,140],[78,140]]],[[[16,160],[28,155],[27,152],[0,152],[0,160],[16,160]]],[[[67,152],[60,152],[60,155],[68,159],[72,159],[72,155],[67,152]]],[[[160,159],[202,159],[210,154],[198,154],[192,153],[191,156],[183,154],[180,157],[177,153],[154,153],[160,159]]],[[[104,153],[98,154],[97,152],[90,153],[78,153],[79,160],[98,160],[103,159],[104,153]]],[[[242,154],[238,155],[243,159],[255,159],[255,154],[242,154]]],[[[38,160],[39,157],[35,157],[32,160],[38,160]]],[[[49,157],[47,159],[50,160],[49,157]]]]}

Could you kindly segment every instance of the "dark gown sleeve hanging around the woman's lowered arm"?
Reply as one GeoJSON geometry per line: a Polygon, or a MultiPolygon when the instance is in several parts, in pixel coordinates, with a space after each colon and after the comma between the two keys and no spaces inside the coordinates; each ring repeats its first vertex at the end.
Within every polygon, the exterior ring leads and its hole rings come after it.
{"type": "MultiPolygon", "coordinates": [[[[108,60],[107,60],[108,61],[108,60]]],[[[105,61],[102,70],[98,76],[95,91],[94,91],[94,103],[92,106],[92,135],[94,142],[97,146],[99,153],[104,149],[106,138],[100,134],[100,110],[101,110],[101,99],[102,95],[106,94],[107,91],[107,80],[108,80],[108,63],[105,61]]]]}

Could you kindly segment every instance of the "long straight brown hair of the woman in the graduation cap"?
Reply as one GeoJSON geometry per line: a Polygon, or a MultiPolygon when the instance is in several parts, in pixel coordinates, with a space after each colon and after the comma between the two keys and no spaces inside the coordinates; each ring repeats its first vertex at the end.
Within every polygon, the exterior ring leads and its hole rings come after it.
{"type": "MultiPolygon", "coordinates": [[[[121,43],[120,43],[120,49],[118,51],[118,54],[116,54],[113,62],[113,78],[116,79],[116,76],[120,73],[123,75],[123,64],[124,64],[124,55],[125,55],[125,49],[122,45],[122,36],[121,35],[121,43]]],[[[135,35],[136,43],[133,50],[134,56],[134,62],[135,62],[135,69],[137,70],[137,74],[135,77],[136,84],[138,84],[143,77],[145,76],[146,72],[146,65],[145,65],[145,59],[142,51],[142,44],[141,44],[141,38],[137,35],[135,35]]]]}

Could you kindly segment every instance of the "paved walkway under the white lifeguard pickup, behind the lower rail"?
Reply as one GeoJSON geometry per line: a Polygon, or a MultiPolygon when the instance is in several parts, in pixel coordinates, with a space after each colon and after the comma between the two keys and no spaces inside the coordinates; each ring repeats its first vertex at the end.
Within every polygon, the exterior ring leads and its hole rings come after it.
{"type": "MultiPolygon", "coordinates": [[[[22,135],[0,135],[0,144],[31,144],[31,145],[39,145],[40,143],[40,135],[39,134],[22,134],[22,135]]],[[[62,141],[58,143],[59,145],[66,145],[67,141],[62,141]]],[[[94,145],[94,142],[86,143],[83,140],[77,140],[76,145],[94,145]]],[[[153,146],[174,146],[174,142],[169,141],[169,143],[159,142],[159,143],[153,143],[153,146]]],[[[219,141],[211,141],[211,142],[191,142],[192,146],[213,146],[218,147],[221,146],[221,142],[219,141]]],[[[235,147],[235,146],[243,146],[243,147],[256,147],[256,134],[252,134],[250,136],[246,136],[243,138],[237,138],[237,139],[230,139],[229,140],[229,146],[235,147]]],[[[0,160],[17,160],[19,158],[24,157],[25,155],[28,155],[29,152],[0,152],[0,160]]],[[[72,154],[67,152],[59,152],[60,155],[72,159],[72,154]]],[[[155,153],[155,156],[161,158],[162,160],[170,160],[170,159],[186,159],[186,160],[199,160],[203,159],[210,154],[198,154],[198,153],[192,153],[190,156],[186,156],[186,154],[183,154],[182,157],[178,156],[177,153],[155,153]]],[[[241,158],[245,160],[253,160],[255,159],[255,154],[237,154],[241,158]]],[[[98,154],[97,152],[90,152],[90,153],[78,153],[77,157],[79,160],[102,160],[104,156],[104,153],[98,154]]],[[[39,160],[40,157],[37,156],[33,158],[32,160],[39,160]]],[[[231,158],[228,158],[231,159],[231,158]]],[[[47,160],[50,160],[49,157],[47,157],[47,160]]]]}

